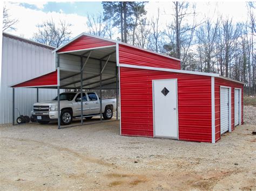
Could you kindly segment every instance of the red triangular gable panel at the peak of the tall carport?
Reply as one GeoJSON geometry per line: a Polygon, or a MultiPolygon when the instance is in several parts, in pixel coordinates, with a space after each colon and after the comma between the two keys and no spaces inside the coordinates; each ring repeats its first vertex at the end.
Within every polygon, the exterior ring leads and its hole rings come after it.
{"type": "Polygon", "coordinates": [[[64,46],[63,48],[60,48],[57,52],[76,51],[79,49],[96,48],[111,45],[116,45],[116,43],[98,38],[82,36],[74,40],[72,43],[64,46]]]}

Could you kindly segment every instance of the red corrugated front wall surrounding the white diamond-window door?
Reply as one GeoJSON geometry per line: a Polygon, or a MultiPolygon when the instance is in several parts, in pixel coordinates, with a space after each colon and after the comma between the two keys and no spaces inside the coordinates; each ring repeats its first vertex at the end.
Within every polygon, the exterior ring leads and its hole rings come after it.
{"type": "Polygon", "coordinates": [[[122,135],[153,137],[152,80],[178,79],[179,139],[211,142],[211,77],[120,68],[122,135]]]}

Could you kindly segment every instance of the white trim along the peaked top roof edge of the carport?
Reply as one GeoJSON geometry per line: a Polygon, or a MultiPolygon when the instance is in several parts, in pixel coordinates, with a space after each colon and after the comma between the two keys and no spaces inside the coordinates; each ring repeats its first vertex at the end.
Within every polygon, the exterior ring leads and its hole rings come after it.
{"type": "Polygon", "coordinates": [[[133,45],[129,45],[127,43],[123,43],[123,42],[120,42],[120,41],[117,41],[117,40],[112,40],[112,39],[107,39],[107,38],[103,38],[103,37],[98,37],[98,36],[95,36],[95,35],[92,35],[92,34],[87,34],[85,32],[79,34],[78,36],[76,36],[75,38],[71,39],[68,43],[56,48],[54,51],[52,52],[56,52],[58,51],[60,48],[63,48],[64,46],[72,43],[72,41],[78,39],[79,37],[82,37],[82,36],[88,36],[88,37],[93,37],[93,38],[98,38],[98,39],[102,39],[102,40],[106,40],[106,41],[110,41],[112,43],[117,43],[117,44],[121,44],[121,45],[125,45],[125,46],[129,46],[129,47],[132,47],[132,48],[136,48],[136,49],[140,49],[142,51],[145,51],[145,52],[150,52],[150,53],[153,53],[153,54],[157,54],[157,55],[160,55],[160,56],[164,56],[166,58],[170,58],[170,59],[173,59],[173,60],[178,60],[178,61],[181,61],[180,59],[177,59],[177,58],[174,58],[172,56],[168,56],[168,55],[164,55],[164,54],[160,54],[160,53],[157,53],[157,52],[154,52],[154,51],[150,51],[149,49],[144,49],[144,48],[140,48],[140,47],[137,47],[137,46],[133,46],[133,45]]]}

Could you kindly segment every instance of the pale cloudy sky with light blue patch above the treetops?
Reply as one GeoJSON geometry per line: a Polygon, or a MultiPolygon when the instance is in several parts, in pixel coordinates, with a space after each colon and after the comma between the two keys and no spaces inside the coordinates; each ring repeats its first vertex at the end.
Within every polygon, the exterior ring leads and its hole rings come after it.
{"type": "MultiPolygon", "coordinates": [[[[72,37],[86,31],[87,13],[103,12],[100,2],[4,2],[12,18],[18,18],[17,30],[6,30],[24,38],[32,38],[37,31],[36,25],[46,19],[64,19],[71,23],[72,37]]],[[[160,9],[161,26],[172,19],[171,2],[149,2],[146,4],[147,17],[156,15],[160,9]]],[[[198,2],[196,12],[199,13],[199,20],[206,16],[216,18],[218,14],[223,17],[233,18],[235,22],[242,22],[247,19],[245,2],[198,2]]]]}

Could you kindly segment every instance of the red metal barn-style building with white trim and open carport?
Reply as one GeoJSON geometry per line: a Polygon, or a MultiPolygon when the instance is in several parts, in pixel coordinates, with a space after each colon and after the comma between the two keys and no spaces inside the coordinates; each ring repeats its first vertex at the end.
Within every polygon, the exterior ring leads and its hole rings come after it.
{"type": "Polygon", "coordinates": [[[181,70],[179,59],[85,33],[54,53],[56,71],[11,87],[96,89],[100,75],[103,89],[114,89],[113,84],[119,82],[120,134],[124,136],[215,143],[221,134],[243,123],[242,82],[181,70]],[[89,80],[86,86],[75,77],[84,55],[90,62],[82,68],[89,80]],[[98,60],[107,56],[103,74],[98,60]],[[111,76],[118,78],[102,84],[111,76]]]}

